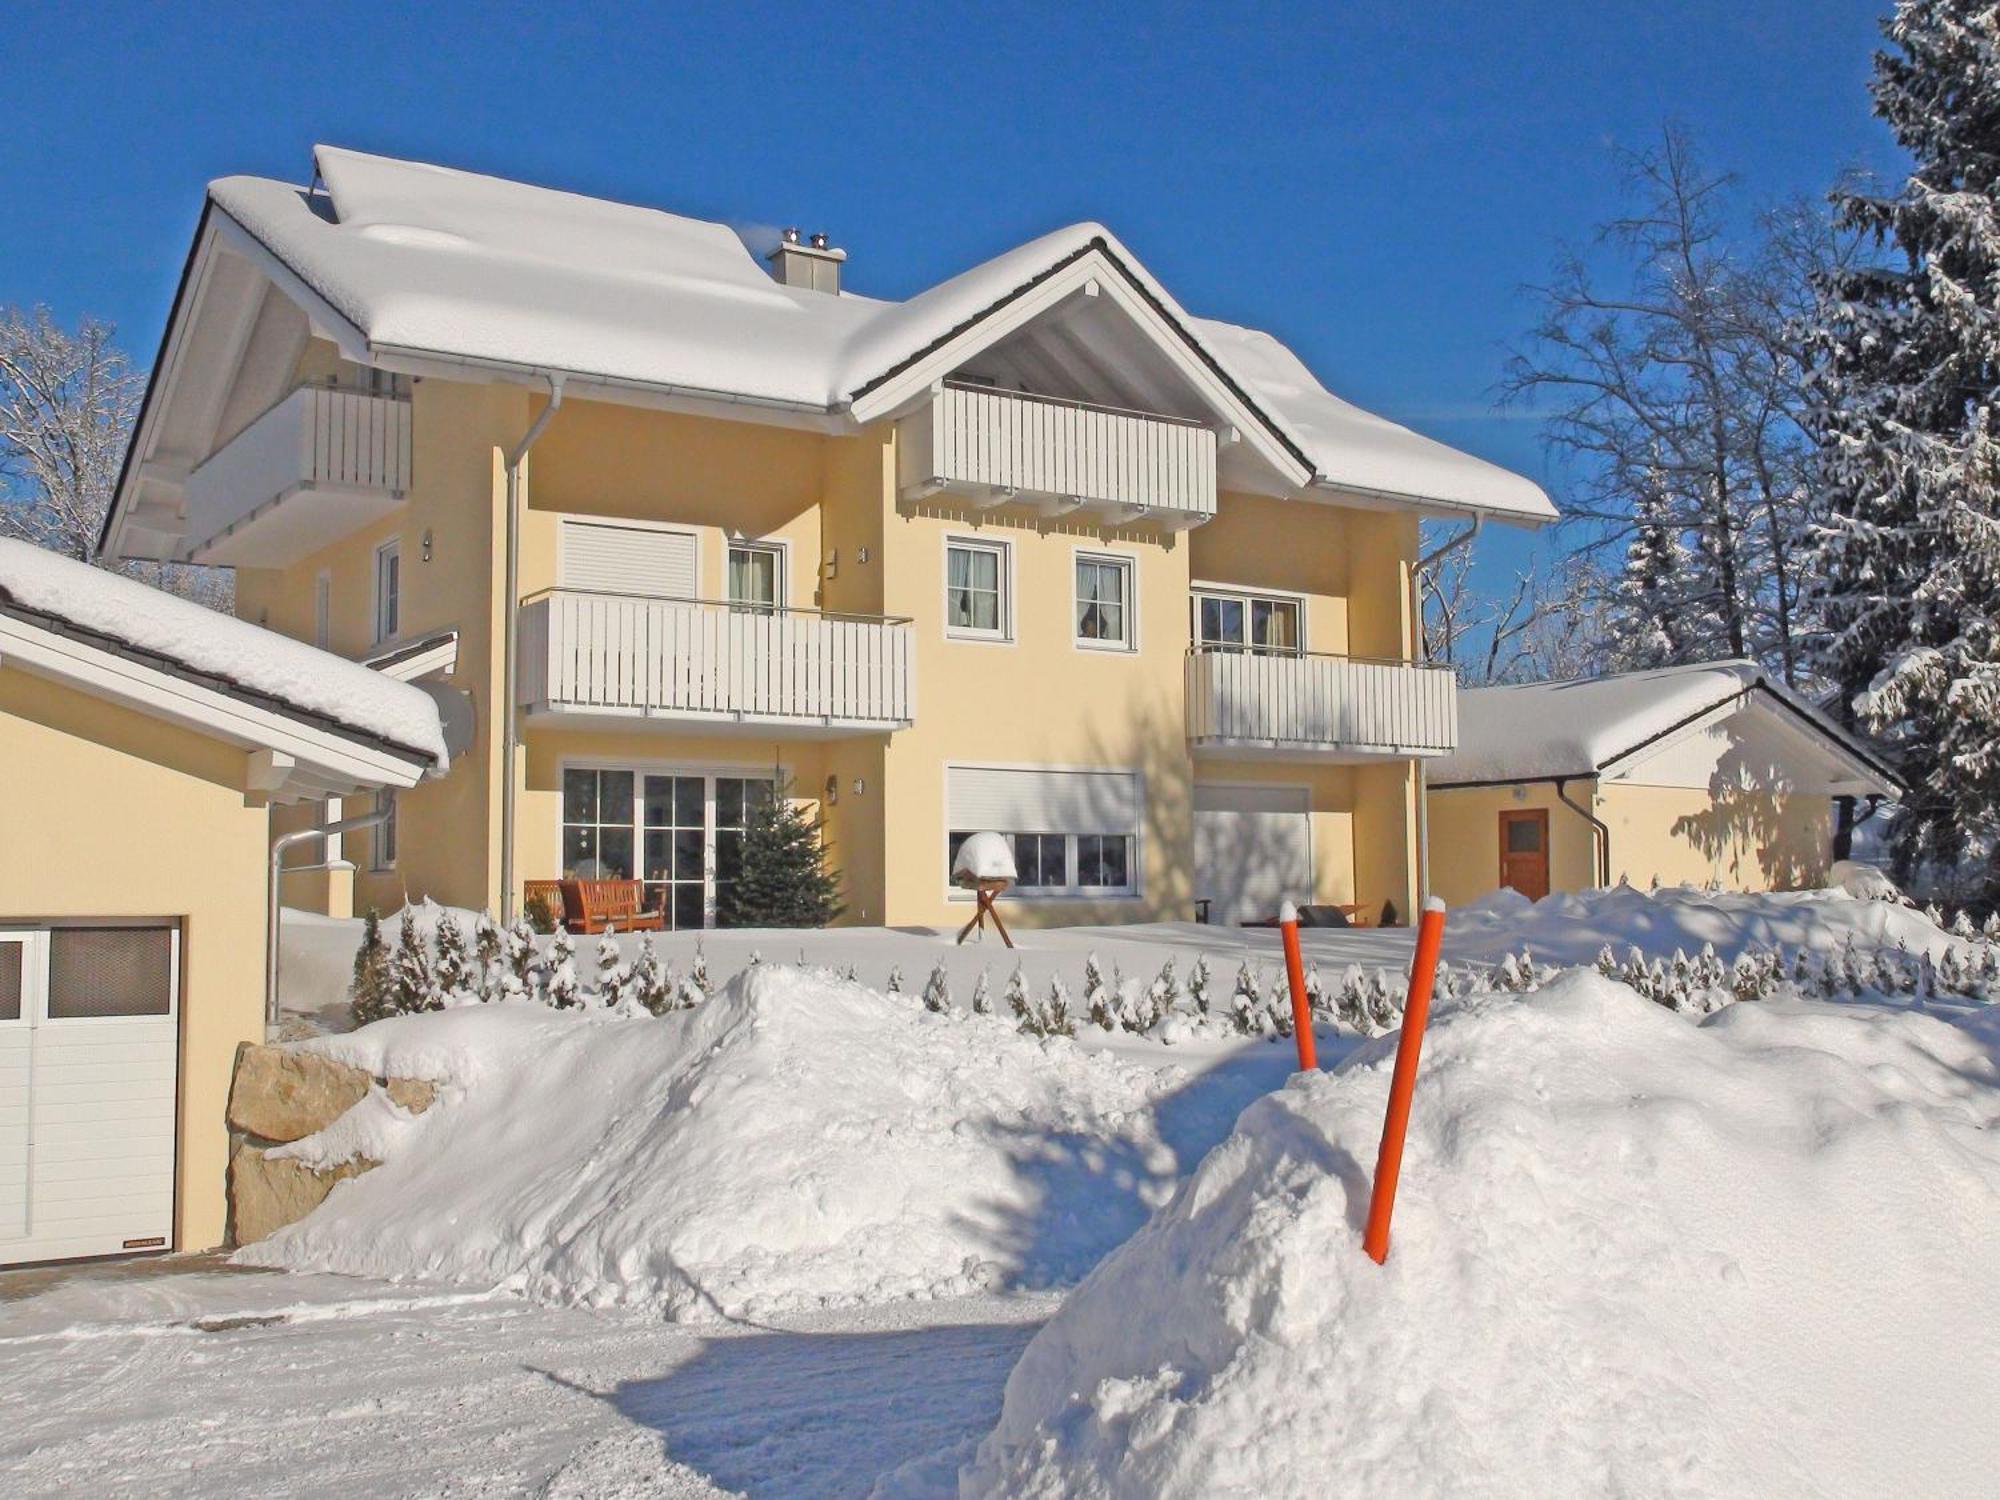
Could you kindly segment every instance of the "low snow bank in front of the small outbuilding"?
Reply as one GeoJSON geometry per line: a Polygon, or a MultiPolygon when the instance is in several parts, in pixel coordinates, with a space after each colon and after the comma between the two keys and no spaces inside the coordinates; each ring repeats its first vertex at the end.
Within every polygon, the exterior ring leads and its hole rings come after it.
{"type": "Polygon", "coordinates": [[[1746,950],[1830,954],[1852,940],[1856,948],[1908,948],[1942,960],[1954,942],[1912,906],[1860,900],[1844,890],[1746,896],[1700,886],[1638,890],[1624,884],[1538,902],[1502,888],[1454,908],[1444,932],[1452,962],[1498,962],[1526,946],[1536,960],[1558,966],[1590,964],[1606,944],[1620,958],[1628,948],[1648,958],[1672,956],[1676,948],[1694,956],[1702,944],[1714,944],[1724,960],[1734,960],[1746,950]]]}

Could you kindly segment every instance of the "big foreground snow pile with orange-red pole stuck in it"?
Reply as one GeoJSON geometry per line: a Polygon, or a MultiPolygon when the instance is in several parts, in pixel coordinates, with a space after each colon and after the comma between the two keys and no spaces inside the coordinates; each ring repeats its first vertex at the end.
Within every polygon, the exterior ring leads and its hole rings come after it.
{"type": "Polygon", "coordinates": [[[1022,1354],[964,1496],[1990,1488],[2000,1074],[1970,1036],[1690,1026],[1594,974],[1446,1006],[1378,1268],[1390,1058],[1244,1112],[1022,1354]]]}

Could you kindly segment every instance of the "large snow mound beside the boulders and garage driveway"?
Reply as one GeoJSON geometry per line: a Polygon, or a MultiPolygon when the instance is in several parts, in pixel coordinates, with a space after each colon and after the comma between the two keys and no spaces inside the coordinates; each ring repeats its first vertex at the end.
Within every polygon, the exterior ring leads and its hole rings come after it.
{"type": "Polygon", "coordinates": [[[500,1002],[306,1046],[440,1098],[250,1264],[766,1316],[1072,1280],[1178,1172],[1178,1068],[772,964],[664,1018],[500,1002]]]}

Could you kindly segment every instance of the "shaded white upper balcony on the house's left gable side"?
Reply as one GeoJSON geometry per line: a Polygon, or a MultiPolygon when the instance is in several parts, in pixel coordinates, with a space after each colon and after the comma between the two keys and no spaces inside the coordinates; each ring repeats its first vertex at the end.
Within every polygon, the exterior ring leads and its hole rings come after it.
{"type": "Polygon", "coordinates": [[[410,400],[300,386],[188,474],[190,562],[280,568],[410,488],[410,400]]]}

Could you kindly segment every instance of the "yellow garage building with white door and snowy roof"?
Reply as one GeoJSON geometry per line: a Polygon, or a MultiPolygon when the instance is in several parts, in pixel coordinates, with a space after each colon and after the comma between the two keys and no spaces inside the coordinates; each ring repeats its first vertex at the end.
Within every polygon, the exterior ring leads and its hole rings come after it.
{"type": "Polygon", "coordinates": [[[0,1266],[224,1236],[278,804],[442,772],[424,690],[0,540],[0,1266]]]}

